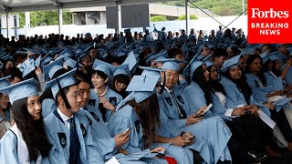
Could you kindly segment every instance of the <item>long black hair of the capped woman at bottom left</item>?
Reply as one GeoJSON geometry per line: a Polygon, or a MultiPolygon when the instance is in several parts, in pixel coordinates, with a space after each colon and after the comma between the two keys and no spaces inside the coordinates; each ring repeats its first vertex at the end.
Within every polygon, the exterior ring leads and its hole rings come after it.
{"type": "Polygon", "coordinates": [[[26,97],[17,99],[13,103],[12,108],[17,128],[19,128],[24,140],[26,141],[29,161],[36,161],[39,154],[46,157],[52,146],[48,142],[45,133],[45,125],[42,115],[40,115],[38,120],[35,120],[28,113],[26,97]]]}

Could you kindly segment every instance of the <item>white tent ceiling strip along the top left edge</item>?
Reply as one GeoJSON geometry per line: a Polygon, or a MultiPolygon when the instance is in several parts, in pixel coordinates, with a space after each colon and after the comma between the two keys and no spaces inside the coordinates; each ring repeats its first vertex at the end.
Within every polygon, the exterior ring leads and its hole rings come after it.
{"type": "MultiPolygon", "coordinates": [[[[39,10],[57,9],[57,5],[62,8],[78,8],[90,6],[112,6],[117,5],[117,0],[1,0],[0,13],[26,12],[39,10]]],[[[148,4],[153,2],[166,2],[172,0],[120,0],[121,5],[148,4]]]]}

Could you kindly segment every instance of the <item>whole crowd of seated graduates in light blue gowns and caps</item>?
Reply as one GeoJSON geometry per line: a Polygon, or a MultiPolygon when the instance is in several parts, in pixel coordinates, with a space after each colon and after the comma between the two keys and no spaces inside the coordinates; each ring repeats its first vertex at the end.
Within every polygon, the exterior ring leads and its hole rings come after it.
{"type": "Polygon", "coordinates": [[[248,164],[291,153],[290,45],[250,45],[221,26],[208,37],[124,32],[0,36],[1,163],[248,164]]]}

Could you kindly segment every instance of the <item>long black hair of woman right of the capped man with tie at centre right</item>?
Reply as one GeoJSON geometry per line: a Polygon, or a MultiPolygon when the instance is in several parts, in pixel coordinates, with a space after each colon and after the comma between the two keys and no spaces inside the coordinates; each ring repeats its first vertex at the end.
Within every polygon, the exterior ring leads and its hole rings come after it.
{"type": "Polygon", "coordinates": [[[206,78],[203,75],[203,65],[197,67],[193,72],[193,82],[196,82],[199,87],[203,90],[204,98],[207,104],[212,103],[213,98],[211,97],[211,87],[209,83],[206,83],[206,78]]]}

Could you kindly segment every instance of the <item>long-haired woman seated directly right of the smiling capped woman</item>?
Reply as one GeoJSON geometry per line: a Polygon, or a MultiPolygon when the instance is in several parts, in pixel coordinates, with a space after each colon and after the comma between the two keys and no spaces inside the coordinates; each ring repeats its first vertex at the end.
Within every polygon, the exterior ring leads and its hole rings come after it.
{"type": "Polygon", "coordinates": [[[249,56],[246,60],[246,67],[248,72],[245,75],[246,81],[252,89],[255,101],[262,102],[262,104],[270,109],[271,118],[275,120],[284,133],[284,137],[289,142],[288,149],[292,151],[292,128],[288,126],[291,118],[284,111],[290,111],[291,106],[287,103],[289,99],[283,96],[283,90],[279,90],[283,89],[283,87],[267,86],[266,77],[263,72],[263,59],[260,56],[249,56]],[[287,102],[274,105],[277,100],[281,99],[287,100],[287,102]]]}

